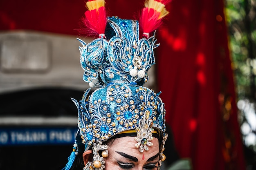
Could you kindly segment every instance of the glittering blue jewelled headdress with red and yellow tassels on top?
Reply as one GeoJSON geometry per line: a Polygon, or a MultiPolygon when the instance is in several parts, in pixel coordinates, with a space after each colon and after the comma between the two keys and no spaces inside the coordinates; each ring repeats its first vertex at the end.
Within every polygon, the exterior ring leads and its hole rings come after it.
{"type": "MultiPolygon", "coordinates": [[[[106,17],[105,1],[91,0],[86,3],[84,23],[99,34],[99,38],[89,44],[78,39],[82,46],[81,66],[83,80],[90,87],[99,87],[91,95],[90,88],[77,102],[78,133],[65,169],[73,163],[75,154],[92,148],[93,162],[88,162],[85,170],[102,170],[103,157],[108,156],[108,146],[104,141],[120,134],[134,135],[140,152],[148,151],[151,140],[157,136],[160,157],[163,160],[165,133],[164,103],[154,91],[143,87],[148,81],[148,70],[155,64],[155,33],[161,19],[168,14],[165,4],[170,0],[147,0],[140,17],[143,38],[139,38],[139,22],[106,17]],[[82,149],[81,149],[82,148],[82,149]],[[103,150],[101,156],[99,150],[103,150]]],[[[161,162],[161,161],[160,161],[161,162]]],[[[161,164],[161,163],[159,163],[161,164]]]]}

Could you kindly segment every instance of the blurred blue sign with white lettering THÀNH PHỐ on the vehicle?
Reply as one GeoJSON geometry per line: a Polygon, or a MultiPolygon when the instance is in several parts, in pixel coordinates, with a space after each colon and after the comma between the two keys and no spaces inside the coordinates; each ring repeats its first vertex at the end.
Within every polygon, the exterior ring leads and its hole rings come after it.
{"type": "Polygon", "coordinates": [[[74,144],[78,128],[0,128],[0,146],[74,144]]]}

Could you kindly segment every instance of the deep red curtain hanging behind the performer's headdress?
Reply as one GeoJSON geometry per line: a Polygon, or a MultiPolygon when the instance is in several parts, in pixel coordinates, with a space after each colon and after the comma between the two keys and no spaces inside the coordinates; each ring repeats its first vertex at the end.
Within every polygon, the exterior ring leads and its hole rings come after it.
{"type": "MultiPolygon", "coordinates": [[[[143,0],[106,0],[133,19],[143,0]]],[[[157,32],[157,83],[175,147],[194,170],[244,170],[223,0],[173,0],[157,32]]],[[[83,0],[2,0],[0,30],[77,35],[83,0]]]]}

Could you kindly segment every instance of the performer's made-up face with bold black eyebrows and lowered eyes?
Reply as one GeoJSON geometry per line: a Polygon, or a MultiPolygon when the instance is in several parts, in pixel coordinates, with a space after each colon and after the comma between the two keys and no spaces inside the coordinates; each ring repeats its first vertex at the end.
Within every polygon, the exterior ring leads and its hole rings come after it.
{"type": "Polygon", "coordinates": [[[109,144],[109,156],[105,170],[157,170],[159,161],[158,139],[152,140],[153,146],[149,150],[139,152],[135,147],[135,137],[121,137],[109,144]]]}

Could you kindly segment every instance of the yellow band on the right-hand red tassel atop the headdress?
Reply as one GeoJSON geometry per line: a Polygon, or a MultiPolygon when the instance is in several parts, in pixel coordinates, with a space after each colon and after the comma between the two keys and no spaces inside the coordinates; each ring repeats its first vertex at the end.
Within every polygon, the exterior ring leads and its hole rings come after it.
{"type": "Polygon", "coordinates": [[[159,18],[161,19],[163,17],[165,17],[169,12],[165,9],[165,5],[162,4],[161,2],[155,1],[155,0],[147,0],[145,2],[145,7],[150,9],[154,9],[155,11],[159,12],[159,18]]]}

